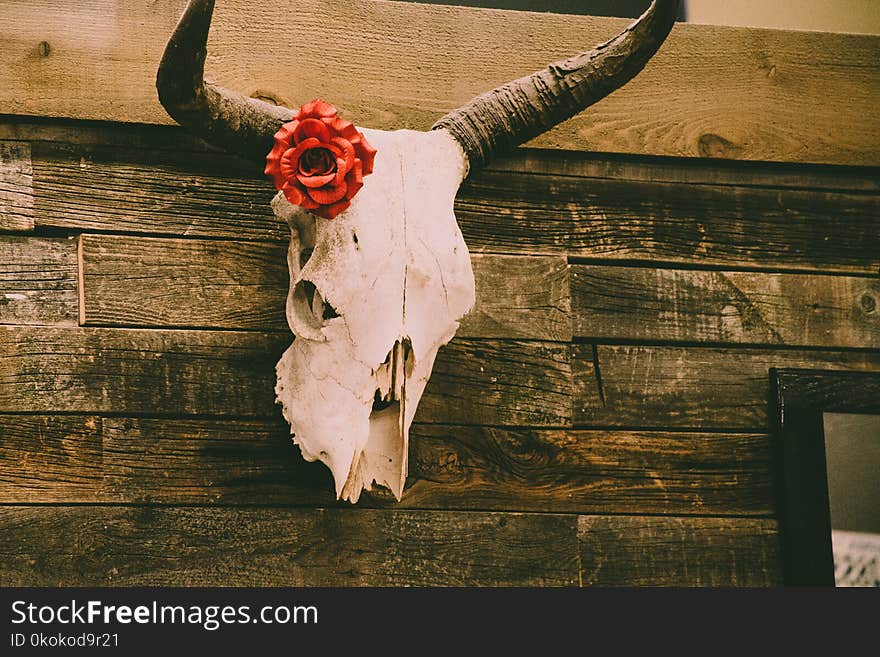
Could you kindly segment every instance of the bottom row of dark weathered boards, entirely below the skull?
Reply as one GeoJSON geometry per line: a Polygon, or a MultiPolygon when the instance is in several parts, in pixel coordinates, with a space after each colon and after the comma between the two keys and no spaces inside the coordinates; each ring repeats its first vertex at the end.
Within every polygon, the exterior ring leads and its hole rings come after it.
{"type": "Polygon", "coordinates": [[[0,530],[13,586],[779,581],[776,523],[760,519],[7,506],[0,530]]]}

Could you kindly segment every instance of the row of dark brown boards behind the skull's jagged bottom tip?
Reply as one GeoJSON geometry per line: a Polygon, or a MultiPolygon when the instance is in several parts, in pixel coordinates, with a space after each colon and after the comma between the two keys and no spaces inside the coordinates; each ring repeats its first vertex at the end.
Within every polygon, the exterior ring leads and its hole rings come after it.
{"type": "MultiPolygon", "coordinates": [[[[334,500],[329,470],[302,459],[280,420],[0,415],[0,437],[2,504],[349,507],[334,500]]],[[[416,424],[409,459],[400,502],[377,489],[359,506],[773,513],[770,443],[763,434],[416,424]]]]}

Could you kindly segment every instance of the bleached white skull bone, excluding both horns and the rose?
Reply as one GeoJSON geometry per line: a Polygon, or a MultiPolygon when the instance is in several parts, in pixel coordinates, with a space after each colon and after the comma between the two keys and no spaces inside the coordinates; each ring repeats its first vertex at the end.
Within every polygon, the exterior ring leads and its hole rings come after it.
{"type": "Polygon", "coordinates": [[[364,130],[378,148],[351,207],[327,220],[279,194],[291,228],[287,319],[296,340],[276,396],[306,460],[357,502],[375,482],[399,500],[409,428],[439,348],[474,304],[467,245],[453,213],[466,173],[445,130],[364,130]]]}

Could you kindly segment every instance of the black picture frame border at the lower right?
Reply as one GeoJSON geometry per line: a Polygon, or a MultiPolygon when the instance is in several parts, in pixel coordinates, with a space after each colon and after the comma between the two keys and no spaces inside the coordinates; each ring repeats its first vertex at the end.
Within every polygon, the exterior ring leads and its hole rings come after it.
{"type": "Polygon", "coordinates": [[[786,586],[834,586],[825,413],[880,414],[880,372],[771,369],[786,586]]]}

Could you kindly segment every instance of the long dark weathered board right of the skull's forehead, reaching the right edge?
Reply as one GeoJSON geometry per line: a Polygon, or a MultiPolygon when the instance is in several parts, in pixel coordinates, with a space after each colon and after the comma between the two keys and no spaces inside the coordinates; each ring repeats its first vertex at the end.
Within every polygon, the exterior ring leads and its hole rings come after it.
{"type": "Polygon", "coordinates": [[[474,250],[876,274],[880,197],[477,173],[456,214],[474,250]]]}

